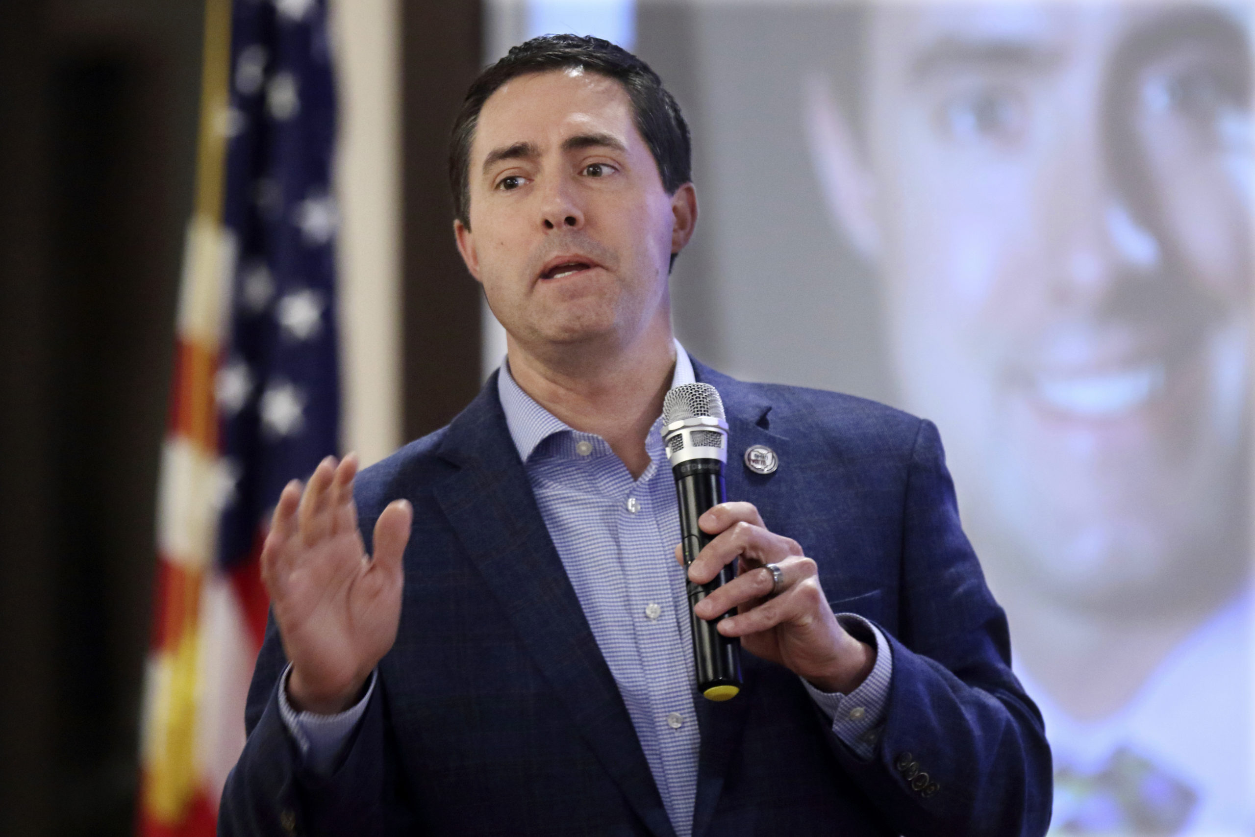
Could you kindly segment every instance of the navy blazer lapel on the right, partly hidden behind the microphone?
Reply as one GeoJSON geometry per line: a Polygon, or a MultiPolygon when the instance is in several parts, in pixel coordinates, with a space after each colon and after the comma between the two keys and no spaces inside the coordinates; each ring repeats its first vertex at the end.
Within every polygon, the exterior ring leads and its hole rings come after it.
{"type": "MultiPolygon", "coordinates": [[[[764,444],[776,450],[781,448],[779,437],[767,429],[771,403],[734,378],[722,375],[697,360],[693,361],[693,371],[699,381],[719,390],[728,415],[728,464],[724,467],[728,499],[754,502],[754,489],[745,478],[743,456],[754,444],[764,444]]],[[[727,703],[697,701],[698,723],[702,725],[702,755],[698,760],[698,793],[693,811],[694,837],[702,837],[714,816],[724,777],[740,744],[753,699],[754,683],[752,678],[747,678],[742,693],[727,703]]]]}

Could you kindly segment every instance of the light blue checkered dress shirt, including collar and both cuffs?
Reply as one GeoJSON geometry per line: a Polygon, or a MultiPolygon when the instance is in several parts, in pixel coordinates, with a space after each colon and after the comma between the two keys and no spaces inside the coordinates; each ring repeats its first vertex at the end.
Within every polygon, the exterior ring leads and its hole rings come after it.
{"type": "MultiPolygon", "coordinates": [[[[673,387],[693,383],[693,364],[675,344],[673,387]]],[[[671,824],[679,837],[693,831],[698,730],[693,645],[680,542],[675,482],[663,449],[661,417],[645,448],[650,464],[639,479],[601,437],[574,430],[532,400],[503,364],[497,392],[511,438],[527,469],[541,517],[592,635],[615,678],[671,824]]],[[[842,615],[845,620],[861,620],[842,615]]],[[[863,758],[871,757],[892,671],[880,631],[872,674],[850,695],[826,694],[803,680],[833,733],[863,758]]],[[[286,683],[286,679],[285,679],[286,683]]],[[[369,700],[340,715],[296,713],[280,691],[284,720],[315,769],[329,770],[340,742],[369,700]]]]}

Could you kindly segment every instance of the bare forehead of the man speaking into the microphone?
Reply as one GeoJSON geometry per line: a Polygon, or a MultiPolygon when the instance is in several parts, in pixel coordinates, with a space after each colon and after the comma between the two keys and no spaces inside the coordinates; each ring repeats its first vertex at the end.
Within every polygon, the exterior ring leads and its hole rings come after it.
{"type": "Polygon", "coordinates": [[[631,100],[617,80],[582,68],[528,73],[484,102],[472,157],[479,161],[515,143],[546,149],[579,134],[609,134],[626,146],[635,133],[631,100]]]}

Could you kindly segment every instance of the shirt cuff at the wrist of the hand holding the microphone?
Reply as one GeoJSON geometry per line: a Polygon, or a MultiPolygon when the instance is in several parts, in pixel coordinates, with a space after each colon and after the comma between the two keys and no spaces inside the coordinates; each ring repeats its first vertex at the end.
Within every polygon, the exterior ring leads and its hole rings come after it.
{"type": "Polygon", "coordinates": [[[894,650],[880,629],[857,614],[838,614],[837,621],[855,639],[867,642],[875,637],[876,664],[867,679],[850,694],[821,691],[802,678],[814,705],[832,722],[832,734],[860,758],[870,759],[880,740],[885,722],[889,684],[894,675],[894,650]]]}

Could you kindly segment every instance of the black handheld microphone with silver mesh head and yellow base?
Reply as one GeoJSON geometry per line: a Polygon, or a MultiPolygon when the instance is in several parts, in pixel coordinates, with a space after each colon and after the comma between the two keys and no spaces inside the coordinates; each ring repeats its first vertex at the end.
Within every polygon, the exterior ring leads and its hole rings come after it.
{"type": "MultiPolygon", "coordinates": [[[[688,567],[713,540],[698,526],[698,518],[725,499],[723,463],[728,461],[728,422],[719,390],[710,384],[681,384],[666,393],[663,443],[680,501],[680,537],[688,567]]],[[[709,584],[686,581],[698,691],[708,700],[730,700],[740,691],[740,640],[728,639],[715,630],[730,614],[707,621],[694,614],[693,607],[733,577],[735,568],[725,566],[709,584]]]]}

